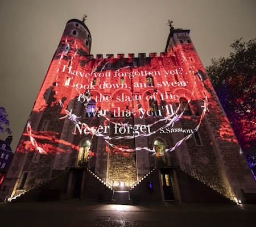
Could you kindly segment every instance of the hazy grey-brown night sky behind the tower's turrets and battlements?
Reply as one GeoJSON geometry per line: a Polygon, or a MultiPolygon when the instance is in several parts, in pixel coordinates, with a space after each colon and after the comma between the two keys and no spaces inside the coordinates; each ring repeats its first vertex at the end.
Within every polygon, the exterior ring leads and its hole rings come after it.
{"type": "MultiPolygon", "coordinates": [[[[69,19],[82,19],[92,35],[91,54],[164,52],[169,28],[191,30],[204,66],[227,57],[240,37],[256,37],[256,1],[1,1],[0,106],[9,114],[16,149],[53,54],[69,19]]],[[[0,134],[5,140],[7,134],[0,134]]]]}

